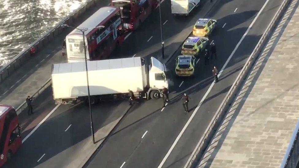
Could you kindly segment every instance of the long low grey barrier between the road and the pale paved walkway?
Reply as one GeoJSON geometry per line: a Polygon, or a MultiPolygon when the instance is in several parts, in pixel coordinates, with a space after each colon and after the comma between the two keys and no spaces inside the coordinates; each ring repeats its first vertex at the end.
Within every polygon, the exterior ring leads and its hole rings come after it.
{"type": "Polygon", "coordinates": [[[216,111],[214,117],[210,121],[210,124],[208,125],[205,132],[203,133],[203,136],[199,140],[194,151],[191,153],[191,156],[189,157],[184,168],[198,166],[197,163],[202,158],[202,155],[204,154],[206,148],[208,147],[212,138],[214,137],[216,130],[218,129],[218,126],[221,124],[221,121],[223,120],[226,112],[229,110],[231,104],[235,100],[235,98],[237,96],[237,92],[240,90],[242,84],[246,80],[246,77],[248,76],[250,70],[252,69],[255,61],[261,54],[263,47],[265,46],[268,39],[270,38],[270,35],[272,34],[274,28],[278,25],[280,19],[282,18],[283,14],[285,13],[290,2],[291,2],[291,0],[284,0],[282,2],[278,11],[275,13],[270,24],[266,28],[262,37],[259,39],[259,42],[255,46],[251,55],[249,56],[247,62],[244,64],[244,67],[240,71],[237,79],[234,81],[232,87],[229,89],[228,93],[226,94],[225,98],[223,99],[222,103],[220,104],[218,110],[216,111]]]}

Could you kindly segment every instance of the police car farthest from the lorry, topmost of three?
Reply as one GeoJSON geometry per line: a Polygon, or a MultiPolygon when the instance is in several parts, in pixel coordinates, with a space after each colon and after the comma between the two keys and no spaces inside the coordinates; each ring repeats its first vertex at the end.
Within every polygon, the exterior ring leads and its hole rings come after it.
{"type": "Polygon", "coordinates": [[[197,36],[208,36],[216,28],[216,26],[217,21],[214,19],[199,18],[193,27],[192,33],[197,36]]]}

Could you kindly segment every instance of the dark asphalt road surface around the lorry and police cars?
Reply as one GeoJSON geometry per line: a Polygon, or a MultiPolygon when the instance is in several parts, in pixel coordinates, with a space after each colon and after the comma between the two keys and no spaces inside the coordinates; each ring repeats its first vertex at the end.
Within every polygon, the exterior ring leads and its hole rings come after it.
{"type": "MultiPolygon", "coordinates": [[[[208,66],[200,60],[196,65],[194,78],[176,78],[173,71],[175,66],[175,57],[173,57],[166,65],[169,69],[167,75],[173,80],[173,85],[169,89],[170,104],[162,112],[161,99],[143,100],[135,104],[113,135],[93,156],[87,167],[120,167],[123,162],[126,162],[123,167],[157,167],[212,83],[212,66],[216,65],[218,70],[221,69],[264,2],[265,0],[252,0],[248,4],[246,0],[218,0],[207,15],[218,20],[218,29],[210,36],[210,40],[214,40],[217,44],[217,60],[212,60],[208,66]],[[236,8],[238,9],[234,12],[236,8]],[[189,107],[192,112],[189,114],[183,112],[179,100],[184,91],[187,91],[191,97],[189,107]]],[[[209,1],[203,3],[209,3],[209,1]]],[[[214,85],[190,127],[187,128],[186,134],[166,160],[165,167],[184,165],[190,151],[193,151],[246,58],[270,22],[269,16],[274,15],[279,5],[279,0],[273,0],[263,10],[223,71],[219,83],[214,85]]],[[[197,11],[187,18],[176,18],[169,12],[169,1],[163,2],[161,7],[162,11],[165,11],[162,21],[167,20],[163,27],[165,41],[186,29],[189,30],[190,25],[195,22],[194,19],[205,15],[202,13],[205,9],[195,9],[197,11]]],[[[157,17],[156,10],[137,32],[129,36],[123,47],[113,53],[114,57],[130,57],[134,54],[146,58],[157,56],[161,47],[157,17]],[[151,36],[153,37],[147,42],[151,36]]],[[[175,53],[175,55],[179,54],[179,51],[175,53]]],[[[44,96],[40,96],[35,102],[37,104],[35,115],[51,111],[55,107],[51,99],[51,90],[45,92],[44,96]]],[[[126,101],[103,102],[93,107],[95,129],[103,127],[107,124],[105,123],[107,119],[117,117],[119,112],[126,107],[126,101]]],[[[22,134],[23,138],[32,129],[28,128],[24,135],[22,134]]],[[[66,163],[77,159],[86,140],[91,140],[88,108],[82,104],[61,105],[25,141],[17,155],[3,167],[63,167],[67,165],[66,163]],[[72,124],[70,128],[65,131],[70,124],[72,124]]]]}

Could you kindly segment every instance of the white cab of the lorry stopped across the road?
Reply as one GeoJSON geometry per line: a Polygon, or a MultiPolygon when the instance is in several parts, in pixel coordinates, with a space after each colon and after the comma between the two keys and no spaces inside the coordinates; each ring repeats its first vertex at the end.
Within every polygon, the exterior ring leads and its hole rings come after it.
{"type": "Polygon", "coordinates": [[[162,64],[159,60],[157,60],[154,57],[150,58],[149,86],[151,88],[150,90],[152,90],[150,91],[151,98],[159,98],[161,94],[161,90],[164,87],[168,88],[168,81],[166,80],[165,71],[166,68],[164,64],[162,64]],[[158,89],[160,93],[154,89],[158,89]]]}

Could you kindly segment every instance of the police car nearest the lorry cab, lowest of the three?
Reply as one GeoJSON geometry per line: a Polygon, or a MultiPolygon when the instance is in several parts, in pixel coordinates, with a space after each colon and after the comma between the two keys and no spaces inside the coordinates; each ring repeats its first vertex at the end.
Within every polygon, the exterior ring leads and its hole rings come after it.
{"type": "Polygon", "coordinates": [[[193,55],[179,55],[176,58],[176,75],[192,76],[195,68],[195,57],[193,55]]]}

